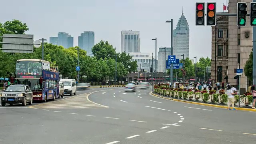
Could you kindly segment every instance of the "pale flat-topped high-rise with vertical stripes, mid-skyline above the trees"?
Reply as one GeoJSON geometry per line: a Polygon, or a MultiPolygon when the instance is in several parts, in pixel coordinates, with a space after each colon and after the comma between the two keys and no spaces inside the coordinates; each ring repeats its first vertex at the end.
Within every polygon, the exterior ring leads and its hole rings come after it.
{"type": "Polygon", "coordinates": [[[140,52],[140,32],[132,30],[121,31],[121,52],[140,52]]]}

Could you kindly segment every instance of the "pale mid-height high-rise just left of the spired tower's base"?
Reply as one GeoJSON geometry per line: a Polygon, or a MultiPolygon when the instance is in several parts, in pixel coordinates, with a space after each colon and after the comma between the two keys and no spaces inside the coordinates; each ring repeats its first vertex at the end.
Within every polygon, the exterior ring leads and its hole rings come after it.
{"type": "Polygon", "coordinates": [[[158,51],[158,72],[164,72],[166,60],[168,55],[171,55],[171,48],[165,48],[165,60],[164,60],[164,48],[159,48],[158,51]]]}

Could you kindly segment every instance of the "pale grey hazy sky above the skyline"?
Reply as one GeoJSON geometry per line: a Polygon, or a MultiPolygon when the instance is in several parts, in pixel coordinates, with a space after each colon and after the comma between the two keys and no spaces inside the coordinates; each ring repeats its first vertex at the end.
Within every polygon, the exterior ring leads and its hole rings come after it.
{"type": "MultiPolygon", "coordinates": [[[[195,3],[213,0],[3,0],[0,22],[18,19],[26,23],[34,40],[67,32],[74,36],[74,46],[83,31],[94,31],[95,42],[108,40],[120,52],[121,30],[140,31],[141,52],[170,47],[170,23],[173,27],[182,14],[190,27],[190,58],[210,57],[211,28],[195,26],[195,3]]],[[[223,12],[226,0],[215,0],[217,12],[223,12]]],[[[155,53],[155,52],[154,52],[155,53]]]]}

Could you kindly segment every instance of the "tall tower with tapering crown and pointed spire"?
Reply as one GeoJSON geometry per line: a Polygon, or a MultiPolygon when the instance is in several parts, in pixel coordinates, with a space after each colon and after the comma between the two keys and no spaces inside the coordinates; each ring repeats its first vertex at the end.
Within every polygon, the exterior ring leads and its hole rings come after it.
{"type": "Polygon", "coordinates": [[[183,58],[182,54],[184,54],[184,58],[189,58],[189,26],[183,13],[183,7],[182,15],[176,28],[173,30],[173,42],[173,52],[176,58],[181,60],[183,58]]]}

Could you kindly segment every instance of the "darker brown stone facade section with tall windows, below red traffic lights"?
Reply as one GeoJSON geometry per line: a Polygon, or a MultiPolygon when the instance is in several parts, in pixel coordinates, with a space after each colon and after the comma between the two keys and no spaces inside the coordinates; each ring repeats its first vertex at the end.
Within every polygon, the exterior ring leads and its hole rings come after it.
{"type": "Polygon", "coordinates": [[[212,82],[228,82],[228,16],[217,16],[212,26],[212,82]]]}

